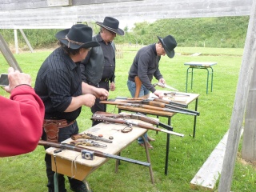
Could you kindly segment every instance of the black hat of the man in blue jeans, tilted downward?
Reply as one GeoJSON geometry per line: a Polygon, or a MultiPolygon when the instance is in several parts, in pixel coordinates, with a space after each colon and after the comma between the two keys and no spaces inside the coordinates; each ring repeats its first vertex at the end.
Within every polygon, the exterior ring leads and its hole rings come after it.
{"type": "Polygon", "coordinates": [[[166,54],[169,58],[174,57],[174,48],[177,46],[177,42],[175,38],[171,35],[166,36],[165,38],[158,37],[159,41],[161,42],[163,48],[166,51],[166,54]]]}

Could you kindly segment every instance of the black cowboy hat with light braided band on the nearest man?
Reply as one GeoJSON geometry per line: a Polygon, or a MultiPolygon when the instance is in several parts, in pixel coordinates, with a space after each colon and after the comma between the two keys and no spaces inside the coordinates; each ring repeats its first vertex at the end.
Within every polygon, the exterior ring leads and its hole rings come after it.
{"type": "Polygon", "coordinates": [[[70,29],[61,30],[55,37],[72,50],[99,46],[98,42],[92,41],[93,30],[84,24],[76,24],[70,29]]]}

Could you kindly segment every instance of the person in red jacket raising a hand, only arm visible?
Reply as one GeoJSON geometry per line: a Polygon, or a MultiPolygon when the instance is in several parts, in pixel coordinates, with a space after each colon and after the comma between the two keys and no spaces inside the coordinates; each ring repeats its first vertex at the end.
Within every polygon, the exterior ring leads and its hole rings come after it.
{"type": "Polygon", "coordinates": [[[0,96],[0,157],[26,154],[38,146],[45,107],[31,87],[29,74],[10,67],[10,99],[0,96]]]}

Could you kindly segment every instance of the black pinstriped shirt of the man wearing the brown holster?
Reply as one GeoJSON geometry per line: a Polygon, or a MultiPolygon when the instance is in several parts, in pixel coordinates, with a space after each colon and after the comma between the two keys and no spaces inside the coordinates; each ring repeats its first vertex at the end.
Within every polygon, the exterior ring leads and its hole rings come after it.
{"type": "Polygon", "coordinates": [[[58,48],[46,58],[38,71],[34,90],[46,107],[45,118],[74,121],[81,107],[64,112],[72,97],[82,95],[80,63],[74,63],[68,54],[58,48]]]}

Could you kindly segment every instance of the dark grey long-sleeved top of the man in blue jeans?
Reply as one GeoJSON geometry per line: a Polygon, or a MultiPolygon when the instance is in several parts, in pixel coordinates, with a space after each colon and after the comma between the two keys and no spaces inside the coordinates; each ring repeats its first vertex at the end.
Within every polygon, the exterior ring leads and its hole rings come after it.
{"type": "Polygon", "coordinates": [[[142,84],[146,86],[147,90],[154,93],[155,88],[151,84],[151,80],[154,78],[163,78],[159,70],[160,56],[157,55],[155,44],[142,47],[138,50],[134,58],[132,66],[130,66],[129,80],[134,82],[135,76],[142,81],[142,84]]]}

